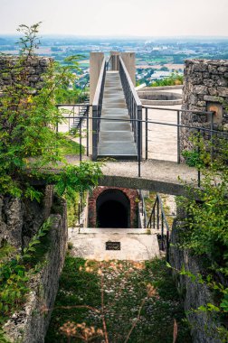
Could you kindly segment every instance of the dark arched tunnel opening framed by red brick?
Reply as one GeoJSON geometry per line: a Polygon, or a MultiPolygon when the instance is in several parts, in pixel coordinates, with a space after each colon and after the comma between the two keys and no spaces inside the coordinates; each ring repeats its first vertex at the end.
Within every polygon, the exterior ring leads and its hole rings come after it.
{"type": "Polygon", "coordinates": [[[130,227],[130,202],[121,190],[104,190],[96,211],[98,227],[130,227]]]}

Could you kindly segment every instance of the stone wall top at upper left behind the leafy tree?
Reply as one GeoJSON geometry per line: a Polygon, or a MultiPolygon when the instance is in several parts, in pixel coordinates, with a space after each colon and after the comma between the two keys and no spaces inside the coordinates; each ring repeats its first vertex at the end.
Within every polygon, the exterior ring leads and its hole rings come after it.
{"type": "MultiPolygon", "coordinates": [[[[12,81],[21,82],[16,77],[15,65],[18,61],[18,57],[6,56],[0,57],[0,89],[5,86],[10,86],[12,81]]],[[[47,71],[47,68],[52,61],[47,57],[33,57],[26,61],[25,72],[25,85],[35,89],[43,88],[43,73],[47,71]]]]}

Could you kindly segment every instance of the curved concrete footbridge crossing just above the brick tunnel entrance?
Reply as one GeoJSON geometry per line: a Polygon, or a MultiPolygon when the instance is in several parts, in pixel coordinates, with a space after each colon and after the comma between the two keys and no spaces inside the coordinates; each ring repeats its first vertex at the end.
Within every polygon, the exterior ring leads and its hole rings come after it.
{"type": "MultiPolygon", "coordinates": [[[[67,161],[78,164],[79,160],[68,156],[67,161]]],[[[138,178],[138,162],[105,162],[101,167],[100,185],[136,190],[153,190],[172,195],[187,195],[184,184],[197,187],[197,170],[186,164],[170,161],[148,160],[141,162],[138,178]]]]}

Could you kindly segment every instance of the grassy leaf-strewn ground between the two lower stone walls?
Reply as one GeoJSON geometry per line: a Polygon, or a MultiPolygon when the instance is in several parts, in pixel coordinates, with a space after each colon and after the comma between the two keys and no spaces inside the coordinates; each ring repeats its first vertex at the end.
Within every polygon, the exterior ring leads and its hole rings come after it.
{"type": "MultiPolygon", "coordinates": [[[[86,323],[87,327],[102,329],[100,313],[86,308],[73,306],[90,305],[101,308],[100,275],[104,274],[104,302],[106,322],[110,343],[123,343],[134,320],[142,300],[147,298],[141,311],[140,320],[133,330],[130,343],[172,343],[173,326],[176,319],[178,338],[176,343],[190,343],[188,326],[182,302],[176,291],[175,283],[164,260],[155,259],[145,264],[129,261],[87,262],[81,258],[66,257],[60,280],[60,288],[52,311],[52,320],[45,339],[46,343],[82,342],[80,338],[68,340],[62,336],[60,328],[71,321],[75,324],[86,323]],[[81,271],[79,270],[81,268],[81,271]],[[147,284],[156,288],[158,296],[147,296],[147,284]],[[69,306],[69,309],[62,309],[69,306]]],[[[92,342],[101,342],[95,338],[92,342]]]]}

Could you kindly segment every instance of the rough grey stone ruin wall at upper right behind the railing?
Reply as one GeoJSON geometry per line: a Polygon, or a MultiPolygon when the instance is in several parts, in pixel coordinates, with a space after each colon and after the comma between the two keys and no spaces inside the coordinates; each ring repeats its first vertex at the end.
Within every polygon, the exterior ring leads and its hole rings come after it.
{"type": "MultiPolygon", "coordinates": [[[[216,111],[214,129],[228,130],[228,60],[185,60],[183,106],[185,110],[216,111]]],[[[182,125],[210,128],[211,118],[182,113],[182,125]]],[[[191,149],[193,130],[181,129],[181,151],[191,149]]],[[[209,137],[209,134],[206,134],[209,137]]]]}

